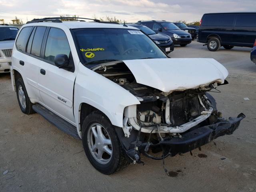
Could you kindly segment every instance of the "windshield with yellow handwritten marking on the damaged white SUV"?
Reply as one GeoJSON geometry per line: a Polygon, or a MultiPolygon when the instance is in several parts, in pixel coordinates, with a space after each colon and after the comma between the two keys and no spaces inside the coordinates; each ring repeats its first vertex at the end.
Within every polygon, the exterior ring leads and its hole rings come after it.
{"type": "Polygon", "coordinates": [[[73,32],[84,65],[115,60],[167,58],[140,30],[82,28],[74,29],[73,32]]]}

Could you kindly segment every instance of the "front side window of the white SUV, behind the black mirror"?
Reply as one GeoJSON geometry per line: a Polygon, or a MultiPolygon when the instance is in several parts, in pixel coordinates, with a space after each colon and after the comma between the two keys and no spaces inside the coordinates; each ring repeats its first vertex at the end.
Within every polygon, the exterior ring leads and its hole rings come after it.
{"type": "Polygon", "coordinates": [[[58,54],[65,54],[70,56],[70,46],[64,31],[51,28],[48,34],[44,59],[54,63],[54,58],[58,54]]]}

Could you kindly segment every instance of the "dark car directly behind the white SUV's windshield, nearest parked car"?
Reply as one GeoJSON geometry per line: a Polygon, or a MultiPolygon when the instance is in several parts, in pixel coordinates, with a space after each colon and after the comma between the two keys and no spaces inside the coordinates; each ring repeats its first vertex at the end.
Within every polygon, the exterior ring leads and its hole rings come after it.
{"type": "Polygon", "coordinates": [[[160,33],[156,34],[156,32],[140,23],[126,23],[126,25],[142,30],[142,32],[148,35],[164,52],[166,52],[166,54],[169,54],[174,50],[174,43],[169,36],[160,33]]]}

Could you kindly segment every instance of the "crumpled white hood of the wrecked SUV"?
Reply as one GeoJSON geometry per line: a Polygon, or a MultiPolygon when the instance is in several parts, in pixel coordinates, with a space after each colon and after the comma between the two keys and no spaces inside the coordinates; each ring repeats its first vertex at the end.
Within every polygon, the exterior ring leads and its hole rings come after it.
{"type": "Polygon", "coordinates": [[[228,70],[210,58],[124,60],[136,82],[162,92],[194,89],[212,82],[224,83],[228,70]]]}

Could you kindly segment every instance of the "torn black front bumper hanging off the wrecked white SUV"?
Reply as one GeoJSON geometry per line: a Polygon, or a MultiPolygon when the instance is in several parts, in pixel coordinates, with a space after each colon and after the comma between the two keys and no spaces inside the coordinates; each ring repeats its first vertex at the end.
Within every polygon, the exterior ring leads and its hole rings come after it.
{"type": "Polygon", "coordinates": [[[153,144],[152,142],[135,142],[134,138],[132,139],[132,137],[124,137],[122,132],[117,132],[117,134],[122,141],[130,140],[130,142],[122,142],[122,147],[126,151],[126,154],[132,160],[134,160],[134,162],[140,162],[140,153],[147,157],[158,160],[162,158],[154,158],[154,156],[148,154],[149,148],[153,149],[160,147],[164,149],[165,157],[169,155],[175,156],[179,153],[190,152],[220,136],[233,134],[243,118],[245,118],[243,113],[240,113],[237,118],[230,117],[228,120],[225,120],[224,118],[218,118],[214,124],[188,130],[182,134],[181,138],[177,136],[170,140],[159,141],[157,144],[153,144]]]}

